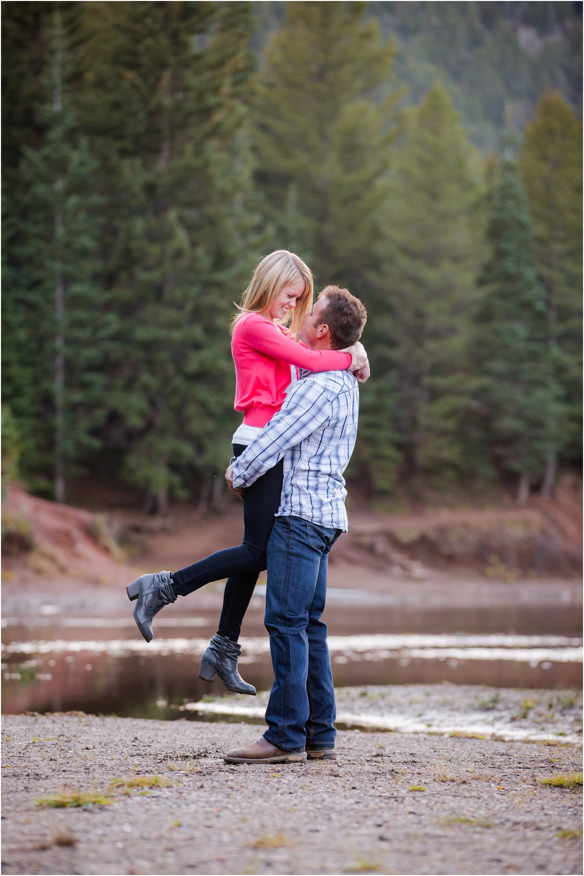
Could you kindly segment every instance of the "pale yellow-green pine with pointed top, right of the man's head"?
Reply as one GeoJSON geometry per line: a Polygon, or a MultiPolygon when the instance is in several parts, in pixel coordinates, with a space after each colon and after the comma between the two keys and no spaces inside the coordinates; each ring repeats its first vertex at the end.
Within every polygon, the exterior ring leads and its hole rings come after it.
{"type": "MultiPolygon", "coordinates": [[[[471,464],[461,436],[469,308],[481,257],[482,166],[444,90],[408,117],[391,166],[370,298],[373,378],[394,375],[404,474],[421,484],[471,464]]],[[[369,301],[368,301],[369,303],[369,301]]]]}

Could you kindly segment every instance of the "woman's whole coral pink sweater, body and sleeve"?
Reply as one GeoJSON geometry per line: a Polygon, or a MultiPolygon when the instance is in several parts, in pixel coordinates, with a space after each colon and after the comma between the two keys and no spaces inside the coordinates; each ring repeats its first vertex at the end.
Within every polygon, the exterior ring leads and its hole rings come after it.
{"type": "Polygon", "coordinates": [[[247,426],[264,427],[284,404],[290,385],[290,366],[308,371],[344,371],[350,353],[308,350],[292,332],[260,314],[245,314],[231,339],[236,364],[236,411],[247,426]]]}

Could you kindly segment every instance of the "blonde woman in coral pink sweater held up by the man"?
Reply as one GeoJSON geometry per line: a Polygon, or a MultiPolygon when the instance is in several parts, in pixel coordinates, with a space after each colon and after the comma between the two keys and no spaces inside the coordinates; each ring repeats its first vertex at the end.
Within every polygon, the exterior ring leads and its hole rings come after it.
{"type": "MultiPolygon", "coordinates": [[[[313,275],[302,259],[287,250],[263,258],[243,293],[232,325],[235,407],[243,411],[243,423],[233,436],[234,456],[243,453],[279,411],[299,368],[313,372],[350,369],[358,372],[360,379],[367,378],[367,354],[362,344],[346,350],[308,350],[299,343],[296,335],[311,307],[313,275]]],[[[243,491],[241,545],[217,551],[178,572],[143,575],[126,588],[128,597],[137,599],[134,619],[138,629],[150,642],[152,618],[165,604],[227,578],[219,628],[201,658],[200,678],[212,682],[215,674],[219,675],[229,690],[240,694],[256,693],[237,671],[241,653],[237,639],[257,577],[266,568],[266,548],[280,505],[283,477],[284,461],[280,460],[243,491]]]]}

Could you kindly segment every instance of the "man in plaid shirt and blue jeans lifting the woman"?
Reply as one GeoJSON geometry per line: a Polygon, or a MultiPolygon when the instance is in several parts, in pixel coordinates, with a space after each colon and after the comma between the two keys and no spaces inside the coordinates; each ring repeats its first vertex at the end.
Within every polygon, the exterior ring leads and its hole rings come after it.
{"type": "MultiPolygon", "coordinates": [[[[340,350],[362,334],[367,312],[347,289],[327,286],[306,315],[311,350],[340,350]]],[[[228,763],[297,763],[334,759],[334,686],[327,626],[328,552],[347,531],[342,473],[355,446],[359,392],[350,371],[306,372],[284,405],[226,472],[237,490],[284,456],[282,501],[268,544],[264,622],[275,681],[252,745],[228,763]]]]}

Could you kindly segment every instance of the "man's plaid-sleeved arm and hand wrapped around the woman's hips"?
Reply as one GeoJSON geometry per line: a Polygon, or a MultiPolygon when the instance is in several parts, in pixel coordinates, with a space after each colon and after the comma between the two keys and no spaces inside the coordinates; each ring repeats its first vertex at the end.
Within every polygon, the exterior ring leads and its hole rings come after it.
{"type": "MultiPolygon", "coordinates": [[[[288,392],[278,413],[229,466],[233,489],[251,486],[282,459],[287,449],[296,447],[325,423],[330,413],[331,404],[322,386],[299,380],[288,392]]],[[[229,480],[227,474],[225,477],[229,480]]]]}

